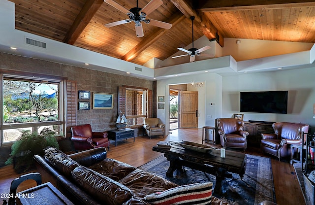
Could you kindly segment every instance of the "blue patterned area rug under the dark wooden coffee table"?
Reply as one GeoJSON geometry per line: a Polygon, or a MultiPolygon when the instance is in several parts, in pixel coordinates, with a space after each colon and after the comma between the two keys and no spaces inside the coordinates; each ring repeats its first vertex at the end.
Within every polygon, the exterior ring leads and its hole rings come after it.
{"type": "MultiPolygon", "coordinates": [[[[202,171],[184,167],[184,172],[174,171],[173,177],[165,175],[169,161],[164,156],[144,164],[139,169],[149,171],[166,178],[178,185],[213,182],[216,176],[202,171]]],[[[232,173],[232,178],[226,178],[227,183],[222,187],[222,195],[213,195],[231,205],[257,205],[265,200],[276,202],[275,188],[272,177],[270,158],[247,154],[247,168],[243,180],[238,174],[232,173]]]]}

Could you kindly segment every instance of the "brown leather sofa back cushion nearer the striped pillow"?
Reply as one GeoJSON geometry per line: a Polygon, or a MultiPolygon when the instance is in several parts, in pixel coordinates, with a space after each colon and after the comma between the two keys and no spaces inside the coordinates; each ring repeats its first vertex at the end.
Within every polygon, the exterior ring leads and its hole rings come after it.
{"type": "Polygon", "coordinates": [[[102,204],[122,205],[132,197],[130,189],[123,184],[83,166],[72,171],[72,178],[102,204]]]}

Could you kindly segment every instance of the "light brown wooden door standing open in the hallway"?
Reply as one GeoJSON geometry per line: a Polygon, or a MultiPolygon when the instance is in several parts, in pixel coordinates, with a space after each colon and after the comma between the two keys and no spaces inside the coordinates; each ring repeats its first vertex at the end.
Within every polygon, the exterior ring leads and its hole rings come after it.
{"type": "Polygon", "coordinates": [[[198,92],[180,91],[180,128],[198,127],[198,92]]]}

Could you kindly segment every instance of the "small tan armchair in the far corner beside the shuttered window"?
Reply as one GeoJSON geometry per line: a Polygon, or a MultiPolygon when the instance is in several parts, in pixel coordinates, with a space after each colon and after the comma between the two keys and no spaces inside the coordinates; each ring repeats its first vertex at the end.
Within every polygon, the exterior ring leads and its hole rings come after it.
{"type": "Polygon", "coordinates": [[[143,127],[150,139],[151,136],[165,135],[165,125],[159,118],[145,118],[143,127]]]}

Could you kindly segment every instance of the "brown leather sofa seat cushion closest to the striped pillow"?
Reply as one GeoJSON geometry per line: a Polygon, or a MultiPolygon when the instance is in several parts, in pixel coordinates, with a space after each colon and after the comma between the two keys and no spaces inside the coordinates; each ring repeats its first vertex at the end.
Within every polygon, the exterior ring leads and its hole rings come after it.
{"type": "Polygon", "coordinates": [[[132,171],[126,177],[119,180],[119,182],[128,187],[133,195],[139,198],[144,198],[146,195],[178,186],[158,175],[139,169],[132,171]]]}

